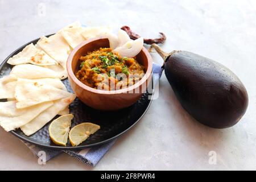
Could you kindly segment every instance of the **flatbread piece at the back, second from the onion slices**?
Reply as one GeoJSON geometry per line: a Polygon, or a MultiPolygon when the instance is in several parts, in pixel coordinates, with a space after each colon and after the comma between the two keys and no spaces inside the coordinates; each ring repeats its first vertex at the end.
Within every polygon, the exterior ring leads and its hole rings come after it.
{"type": "Polygon", "coordinates": [[[85,40],[84,36],[81,35],[82,31],[82,27],[72,27],[61,30],[60,34],[68,42],[69,46],[75,48],[85,40]]]}

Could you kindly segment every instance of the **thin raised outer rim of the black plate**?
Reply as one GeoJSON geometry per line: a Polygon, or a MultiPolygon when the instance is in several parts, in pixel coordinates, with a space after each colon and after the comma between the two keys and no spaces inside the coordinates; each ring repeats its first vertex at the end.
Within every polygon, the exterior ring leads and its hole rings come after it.
{"type": "MultiPolygon", "coordinates": [[[[51,35],[53,35],[53,34],[46,35],[46,37],[51,36],[51,35]]],[[[15,51],[13,51],[9,56],[6,57],[5,60],[2,61],[2,63],[0,64],[0,70],[2,69],[3,65],[7,64],[7,60],[9,60],[10,57],[14,56],[15,52],[17,52],[19,49],[22,49],[23,47],[26,47],[28,44],[31,44],[31,43],[35,42],[36,40],[39,40],[39,39],[40,38],[31,40],[30,42],[28,42],[26,44],[23,44],[23,46],[20,46],[19,48],[15,49],[15,51]]],[[[154,94],[154,78],[153,77],[152,77],[152,85],[153,85],[152,86],[152,94],[154,94]]],[[[49,149],[52,149],[52,150],[81,150],[81,149],[84,149],[84,148],[95,147],[95,146],[99,146],[99,145],[104,144],[104,143],[108,143],[108,142],[112,141],[113,139],[118,138],[120,135],[126,133],[126,131],[130,130],[133,126],[135,126],[141,120],[141,118],[147,113],[147,110],[150,107],[151,103],[152,103],[152,100],[150,100],[150,102],[148,103],[144,113],[137,119],[137,121],[135,121],[133,123],[133,125],[128,127],[126,130],[122,131],[121,133],[115,135],[112,138],[106,139],[106,140],[101,141],[101,142],[88,144],[88,145],[85,145],[85,146],[75,146],[75,147],[47,146],[45,144],[34,142],[30,139],[24,138],[23,136],[15,133],[15,131],[9,131],[9,133],[13,134],[15,137],[18,137],[19,139],[23,140],[24,142],[32,143],[32,144],[35,144],[36,146],[39,146],[39,147],[49,148],[49,149]]]]}

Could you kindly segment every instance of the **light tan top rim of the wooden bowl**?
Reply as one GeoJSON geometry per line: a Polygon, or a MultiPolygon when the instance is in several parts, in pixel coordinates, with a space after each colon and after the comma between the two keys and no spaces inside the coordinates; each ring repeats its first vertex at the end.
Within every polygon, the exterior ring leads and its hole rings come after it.
{"type": "Polygon", "coordinates": [[[100,37],[97,37],[97,38],[91,38],[91,39],[85,40],[84,42],[79,44],[79,46],[75,47],[71,51],[71,53],[69,54],[68,61],[67,61],[68,75],[77,85],[79,85],[82,89],[88,90],[89,92],[93,92],[93,93],[120,94],[120,93],[126,93],[126,92],[129,92],[131,90],[134,90],[134,89],[138,88],[139,86],[141,86],[144,82],[146,82],[148,80],[148,78],[150,77],[150,75],[152,73],[152,57],[144,46],[142,47],[142,52],[147,57],[148,67],[147,67],[147,71],[146,71],[145,75],[136,84],[131,85],[131,86],[125,88],[125,89],[119,89],[119,90],[98,90],[98,89],[91,88],[90,86],[87,86],[87,85],[83,84],[80,80],[78,80],[77,77],[75,76],[75,73],[72,70],[73,57],[75,56],[76,52],[79,51],[79,49],[84,47],[86,44],[94,42],[94,41],[98,41],[98,40],[101,40],[101,39],[108,39],[108,38],[106,38],[105,36],[100,36],[100,37]]]}

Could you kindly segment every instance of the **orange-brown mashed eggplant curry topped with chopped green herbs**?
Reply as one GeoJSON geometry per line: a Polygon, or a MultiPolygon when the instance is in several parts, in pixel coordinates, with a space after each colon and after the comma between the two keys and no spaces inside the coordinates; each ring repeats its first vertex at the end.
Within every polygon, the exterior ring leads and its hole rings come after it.
{"type": "Polygon", "coordinates": [[[85,85],[100,90],[118,90],[134,85],[144,76],[136,57],[122,57],[111,48],[100,48],[80,57],[76,77],[85,85]]]}

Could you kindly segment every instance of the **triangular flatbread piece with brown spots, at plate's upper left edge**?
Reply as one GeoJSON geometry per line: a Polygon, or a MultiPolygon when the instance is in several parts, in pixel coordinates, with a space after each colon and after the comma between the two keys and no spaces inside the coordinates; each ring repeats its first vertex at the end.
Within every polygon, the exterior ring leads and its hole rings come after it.
{"type": "Polygon", "coordinates": [[[42,49],[29,44],[21,52],[11,57],[7,63],[11,65],[31,63],[35,65],[56,65],[57,62],[42,49]]]}

